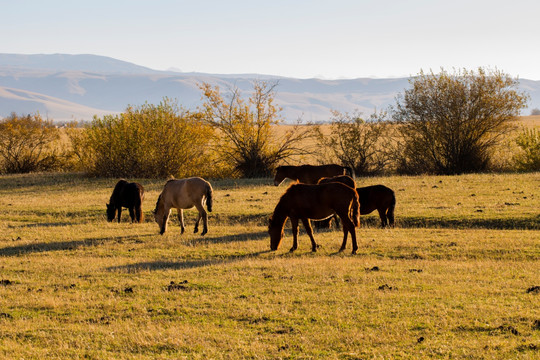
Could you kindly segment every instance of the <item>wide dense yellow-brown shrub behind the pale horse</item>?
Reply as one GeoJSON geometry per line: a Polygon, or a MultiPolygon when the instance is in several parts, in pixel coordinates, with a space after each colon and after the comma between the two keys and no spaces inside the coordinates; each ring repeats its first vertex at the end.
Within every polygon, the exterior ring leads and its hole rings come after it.
{"type": "Polygon", "coordinates": [[[209,176],[206,146],[212,128],[199,113],[165,98],[159,105],[128,107],[119,115],[94,117],[72,133],[75,153],[90,175],[105,177],[209,176]]]}

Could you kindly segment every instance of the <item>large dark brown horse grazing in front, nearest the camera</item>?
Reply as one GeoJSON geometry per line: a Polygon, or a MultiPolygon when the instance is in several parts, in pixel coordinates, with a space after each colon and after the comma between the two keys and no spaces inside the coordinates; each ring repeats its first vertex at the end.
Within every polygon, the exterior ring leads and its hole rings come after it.
{"type": "Polygon", "coordinates": [[[358,244],[355,227],[360,224],[360,205],[356,191],[340,183],[291,185],[279,199],[274,214],[270,217],[270,249],[278,249],[283,239],[283,227],[287,218],[290,218],[293,233],[293,246],[290,251],[298,248],[298,220],[302,220],[311,240],[311,251],[317,251],[318,245],[313,238],[310,219],[326,219],[334,214],[337,214],[343,223],[343,243],[339,251],[345,250],[347,235],[350,233],[352,253],[356,254],[358,244]]]}

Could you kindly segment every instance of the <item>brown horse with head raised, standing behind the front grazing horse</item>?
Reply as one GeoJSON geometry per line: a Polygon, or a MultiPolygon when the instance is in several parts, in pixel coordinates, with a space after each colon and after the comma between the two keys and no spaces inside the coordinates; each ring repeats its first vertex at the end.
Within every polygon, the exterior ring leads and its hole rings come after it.
{"type": "Polygon", "coordinates": [[[328,165],[283,165],[276,168],[276,176],[274,176],[274,185],[278,186],[289,178],[303,184],[317,184],[317,181],[323,177],[332,177],[337,175],[352,176],[352,169],[348,166],[337,164],[328,165]]]}

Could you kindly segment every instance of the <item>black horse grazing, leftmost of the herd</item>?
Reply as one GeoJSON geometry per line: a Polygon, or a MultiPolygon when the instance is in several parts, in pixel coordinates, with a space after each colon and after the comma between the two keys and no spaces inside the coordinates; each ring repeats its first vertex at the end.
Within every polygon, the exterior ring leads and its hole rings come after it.
{"type": "Polygon", "coordinates": [[[118,222],[122,217],[122,208],[129,210],[131,222],[142,222],[142,201],[144,199],[144,188],[141,184],[130,183],[124,179],[119,180],[113,190],[109,203],[107,204],[107,221],[111,222],[117,216],[118,222]]]}

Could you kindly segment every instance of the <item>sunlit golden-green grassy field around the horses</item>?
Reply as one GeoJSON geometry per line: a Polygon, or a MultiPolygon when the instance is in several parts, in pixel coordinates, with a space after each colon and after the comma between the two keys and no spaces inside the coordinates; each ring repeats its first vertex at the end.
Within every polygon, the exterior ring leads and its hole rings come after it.
{"type": "MultiPolygon", "coordinates": [[[[0,176],[0,358],[538,359],[540,174],[383,177],[394,229],[362,217],[269,251],[286,185],[214,186],[209,233],[107,223],[112,179],[0,176]]],[[[287,229],[289,227],[287,226],[287,229]]]]}

